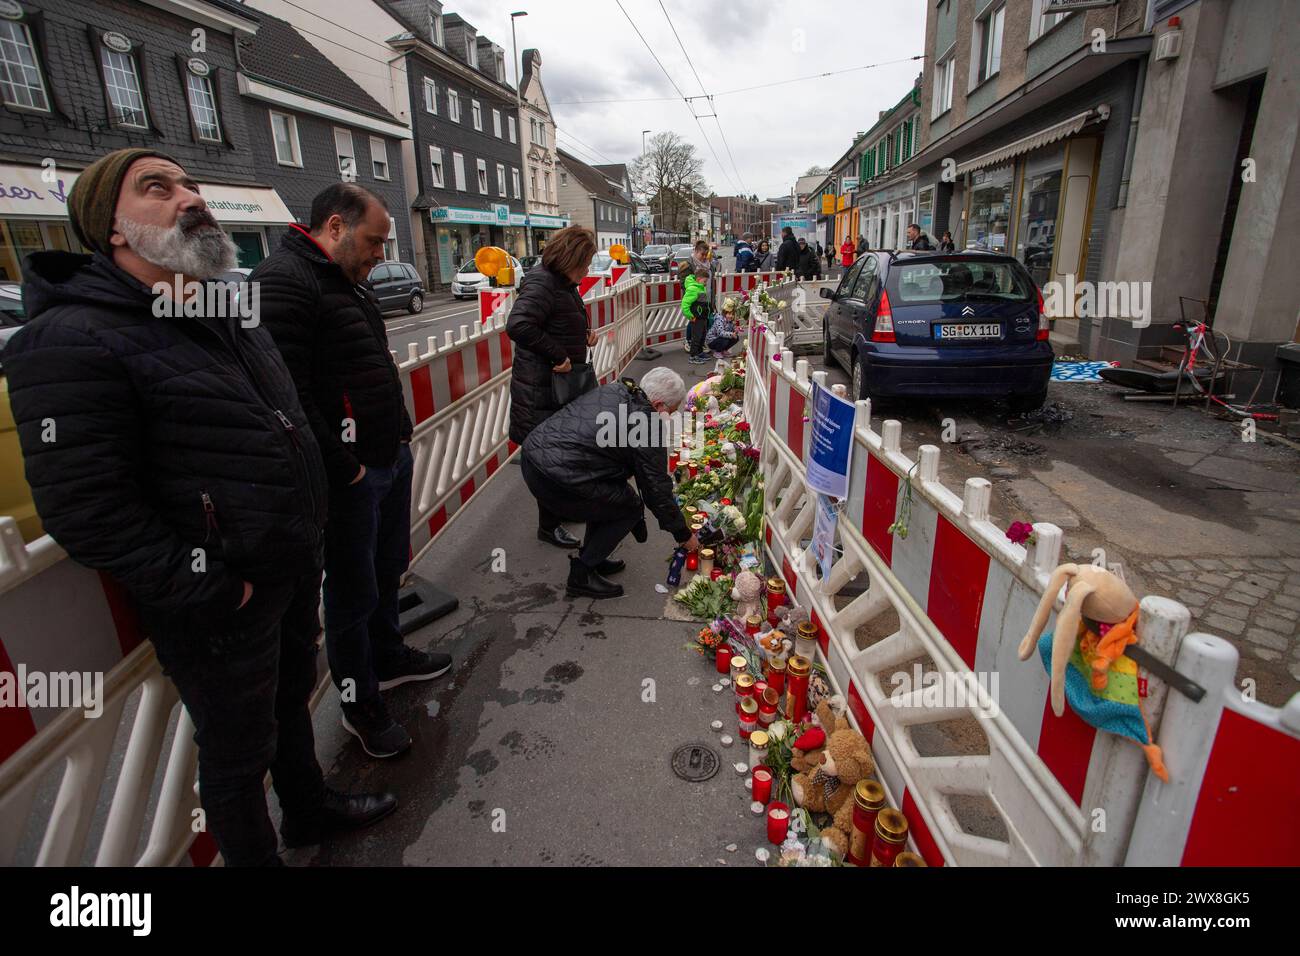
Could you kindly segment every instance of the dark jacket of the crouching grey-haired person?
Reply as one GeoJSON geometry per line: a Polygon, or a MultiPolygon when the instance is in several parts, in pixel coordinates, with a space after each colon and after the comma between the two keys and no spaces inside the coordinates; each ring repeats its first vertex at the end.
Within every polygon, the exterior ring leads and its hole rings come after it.
{"type": "Polygon", "coordinates": [[[636,477],[641,499],[659,527],[677,541],[686,541],[690,529],[672,493],[663,445],[668,427],[660,421],[653,429],[656,420],[659,412],[636,382],[610,382],[573,399],[534,428],[524,442],[524,459],[555,484],[571,488],[575,498],[588,501],[616,501],[625,494],[628,479],[636,477]],[[629,447],[625,438],[636,437],[638,419],[645,423],[641,433],[646,440],[629,447]],[[627,436],[621,434],[624,429],[627,436]],[[611,434],[624,440],[610,441],[611,434]],[[658,444],[653,444],[655,437],[658,444]]]}

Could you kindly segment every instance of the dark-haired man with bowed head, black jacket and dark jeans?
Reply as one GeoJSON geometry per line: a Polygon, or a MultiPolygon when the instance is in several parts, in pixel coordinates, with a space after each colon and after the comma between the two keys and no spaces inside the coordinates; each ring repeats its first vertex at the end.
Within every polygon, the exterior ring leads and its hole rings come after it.
{"type": "Polygon", "coordinates": [[[372,757],[411,747],[380,691],[451,667],[447,654],[403,644],[398,622],[411,554],[411,420],[384,317],[363,285],[387,234],[384,202],[341,182],[312,200],[309,228],[290,226],[250,276],[325,459],[325,649],[343,727],[372,757]]]}

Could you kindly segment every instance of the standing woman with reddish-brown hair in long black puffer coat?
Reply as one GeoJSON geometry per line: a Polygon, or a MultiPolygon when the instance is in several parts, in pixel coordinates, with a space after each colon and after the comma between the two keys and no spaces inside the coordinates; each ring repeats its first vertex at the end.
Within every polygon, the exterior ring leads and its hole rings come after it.
{"type": "MultiPolygon", "coordinates": [[[[595,254],[595,235],[582,226],[560,229],[542,250],[541,264],[524,276],[519,298],[506,321],[515,343],[510,381],[510,440],[523,445],[537,425],[559,411],[551,392],[556,373],[586,362],[595,333],[588,328],[586,307],[577,284],[595,254]]],[[[537,505],[537,537],[556,548],[577,548],[578,540],[559,516],[537,505]]]]}

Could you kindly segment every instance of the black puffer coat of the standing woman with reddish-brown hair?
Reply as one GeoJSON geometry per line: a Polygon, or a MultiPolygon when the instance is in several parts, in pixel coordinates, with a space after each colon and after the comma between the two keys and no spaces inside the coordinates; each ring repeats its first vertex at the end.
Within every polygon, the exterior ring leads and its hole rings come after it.
{"type": "Polygon", "coordinates": [[[577,286],[545,265],[524,276],[506,320],[517,346],[510,377],[510,440],[524,438],[559,406],[551,395],[551,369],[564,359],[586,362],[586,307],[577,286]]]}

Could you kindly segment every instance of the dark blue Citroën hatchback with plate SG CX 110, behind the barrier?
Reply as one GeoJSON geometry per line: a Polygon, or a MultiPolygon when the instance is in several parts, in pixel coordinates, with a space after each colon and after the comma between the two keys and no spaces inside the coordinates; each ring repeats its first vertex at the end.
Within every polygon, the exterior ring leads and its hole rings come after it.
{"type": "Polygon", "coordinates": [[[868,251],[822,295],[824,359],[853,376],[854,398],[1046,401],[1043,295],[1013,256],[868,251]]]}

